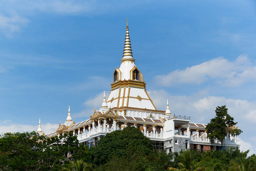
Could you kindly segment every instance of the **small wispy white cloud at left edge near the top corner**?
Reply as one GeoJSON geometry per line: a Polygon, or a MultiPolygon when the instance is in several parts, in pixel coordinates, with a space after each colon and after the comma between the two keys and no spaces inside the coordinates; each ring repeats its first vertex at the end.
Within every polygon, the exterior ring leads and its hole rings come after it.
{"type": "Polygon", "coordinates": [[[14,32],[19,32],[21,27],[26,26],[27,22],[29,22],[28,19],[20,17],[19,15],[7,17],[0,14],[0,30],[9,37],[14,32]]]}

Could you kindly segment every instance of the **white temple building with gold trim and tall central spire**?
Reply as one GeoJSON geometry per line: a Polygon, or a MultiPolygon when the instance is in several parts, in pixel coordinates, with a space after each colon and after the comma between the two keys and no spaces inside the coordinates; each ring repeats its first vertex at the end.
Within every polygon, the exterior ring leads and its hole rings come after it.
{"type": "MultiPolygon", "coordinates": [[[[190,117],[173,115],[168,99],[167,102],[162,102],[166,103],[166,109],[157,110],[145,86],[143,74],[137,68],[132,55],[127,21],[123,58],[120,68],[117,67],[113,72],[113,83],[107,99],[104,92],[101,108],[95,109],[90,119],[75,123],[68,107],[67,120],[64,124],[60,123],[55,132],[46,136],[53,137],[64,132],[72,132],[78,136],[79,143],[95,146],[107,133],[125,127],[136,127],[144,136],[149,137],[153,147],[165,149],[167,153],[189,148],[201,152],[220,149],[220,141],[212,144],[207,138],[206,124],[192,123],[190,117]]],[[[43,134],[40,120],[38,133],[43,134]]],[[[229,133],[223,145],[239,147],[237,137],[232,137],[229,133]]]]}

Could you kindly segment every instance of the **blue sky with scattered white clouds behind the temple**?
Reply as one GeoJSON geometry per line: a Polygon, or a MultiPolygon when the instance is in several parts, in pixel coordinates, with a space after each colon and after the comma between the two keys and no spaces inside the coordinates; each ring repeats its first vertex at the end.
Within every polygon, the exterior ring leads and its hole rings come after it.
{"type": "Polygon", "coordinates": [[[157,109],[208,123],[226,105],[256,153],[253,1],[0,1],[0,133],[44,132],[88,119],[123,55],[133,56],[157,109]]]}

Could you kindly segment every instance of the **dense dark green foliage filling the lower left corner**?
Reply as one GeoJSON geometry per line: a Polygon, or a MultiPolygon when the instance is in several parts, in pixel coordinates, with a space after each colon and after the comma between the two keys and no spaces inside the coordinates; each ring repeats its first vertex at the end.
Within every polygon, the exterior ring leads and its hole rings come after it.
{"type": "Polygon", "coordinates": [[[70,134],[48,139],[36,132],[5,133],[0,146],[0,170],[59,170],[72,159],[67,154],[78,151],[78,140],[70,134]]]}

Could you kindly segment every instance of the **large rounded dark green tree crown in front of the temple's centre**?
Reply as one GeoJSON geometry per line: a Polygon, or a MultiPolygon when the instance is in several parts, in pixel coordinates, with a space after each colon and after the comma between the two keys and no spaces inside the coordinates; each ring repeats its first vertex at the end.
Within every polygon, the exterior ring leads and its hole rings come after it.
{"type": "Polygon", "coordinates": [[[105,164],[112,157],[138,157],[153,152],[151,141],[135,127],[107,133],[91,150],[96,165],[105,164]]]}

